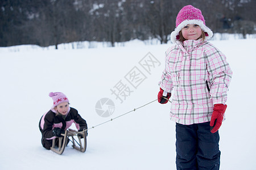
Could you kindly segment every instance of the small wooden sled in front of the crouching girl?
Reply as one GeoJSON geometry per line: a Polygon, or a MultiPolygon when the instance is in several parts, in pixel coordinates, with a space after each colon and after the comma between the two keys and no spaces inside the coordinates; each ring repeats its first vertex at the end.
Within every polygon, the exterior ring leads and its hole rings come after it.
{"type": "Polygon", "coordinates": [[[79,150],[80,152],[85,152],[86,150],[86,131],[85,130],[76,131],[76,130],[68,129],[65,131],[65,134],[61,134],[61,135],[62,137],[57,137],[59,138],[59,147],[57,148],[55,148],[56,138],[52,139],[51,150],[53,152],[56,152],[59,155],[63,154],[65,147],[67,146],[68,137],[72,137],[73,148],[75,148],[76,150],[79,150]],[[79,143],[75,140],[74,136],[77,136],[77,138],[79,139],[79,143]],[[79,146],[77,146],[75,142],[77,142],[77,145],[79,146]]]}

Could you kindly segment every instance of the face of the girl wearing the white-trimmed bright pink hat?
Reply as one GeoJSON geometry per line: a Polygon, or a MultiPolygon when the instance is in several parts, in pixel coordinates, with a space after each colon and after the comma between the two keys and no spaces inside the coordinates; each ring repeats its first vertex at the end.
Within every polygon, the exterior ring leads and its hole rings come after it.
{"type": "Polygon", "coordinates": [[[187,24],[181,33],[185,40],[197,40],[202,35],[202,29],[197,24],[187,24]]]}

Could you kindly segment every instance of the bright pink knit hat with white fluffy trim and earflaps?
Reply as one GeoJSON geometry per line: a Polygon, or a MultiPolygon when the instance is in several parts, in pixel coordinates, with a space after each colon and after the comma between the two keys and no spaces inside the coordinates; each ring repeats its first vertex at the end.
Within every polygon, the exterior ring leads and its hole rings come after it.
{"type": "Polygon", "coordinates": [[[205,39],[209,40],[213,36],[213,32],[205,25],[204,16],[202,12],[192,5],[184,6],[176,18],[176,28],[171,33],[171,41],[175,43],[179,40],[179,33],[187,24],[197,24],[205,32],[205,39]]]}

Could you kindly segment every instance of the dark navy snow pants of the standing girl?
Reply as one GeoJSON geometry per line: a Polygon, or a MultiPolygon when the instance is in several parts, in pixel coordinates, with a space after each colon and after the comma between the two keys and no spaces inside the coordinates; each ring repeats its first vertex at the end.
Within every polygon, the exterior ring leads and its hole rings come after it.
{"type": "Polygon", "coordinates": [[[176,124],[176,167],[178,170],[220,169],[218,131],[210,132],[210,122],[202,124],[176,124]]]}

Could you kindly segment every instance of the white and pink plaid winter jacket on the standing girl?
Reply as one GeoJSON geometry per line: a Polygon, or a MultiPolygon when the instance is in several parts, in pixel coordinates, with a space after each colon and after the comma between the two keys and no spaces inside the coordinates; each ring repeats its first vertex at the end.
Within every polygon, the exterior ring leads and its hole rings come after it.
{"type": "Polygon", "coordinates": [[[160,88],[172,93],[171,120],[183,124],[210,121],[214,104],[225,104],[232,70],[208,41],[177,41],[166,51],[160,88]]]}

